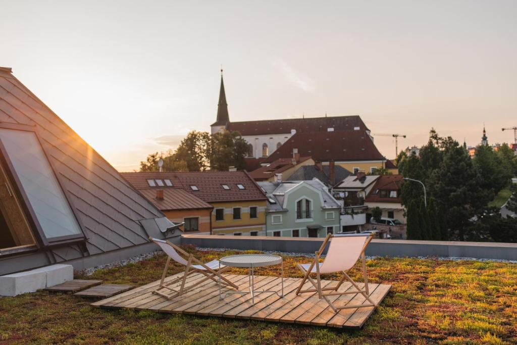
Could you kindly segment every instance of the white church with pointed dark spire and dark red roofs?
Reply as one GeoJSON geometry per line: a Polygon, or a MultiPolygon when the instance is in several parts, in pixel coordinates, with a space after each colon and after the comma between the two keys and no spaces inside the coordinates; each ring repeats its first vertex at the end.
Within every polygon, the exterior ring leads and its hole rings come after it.
{"type": "Polygon", "coordinates": [[[351,172],[392,168],[386,167],[386,158],[358,115],[231,122],[221,70],[217,120],[211,133],[224,130],[238,131],[248,143],[247,157],[260,159],[263,165],[299,154],[324,165],[335,161],[351,172]]]}

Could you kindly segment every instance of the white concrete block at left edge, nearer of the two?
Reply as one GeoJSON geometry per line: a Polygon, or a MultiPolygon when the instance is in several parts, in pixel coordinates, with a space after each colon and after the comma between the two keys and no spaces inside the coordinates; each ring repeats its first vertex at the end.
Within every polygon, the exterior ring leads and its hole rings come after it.
{"type": "Polygon", "coordinates": [[[45,272],[21,272],[0,277],[0,295],[16,296],[47,287],[45,272]]]}

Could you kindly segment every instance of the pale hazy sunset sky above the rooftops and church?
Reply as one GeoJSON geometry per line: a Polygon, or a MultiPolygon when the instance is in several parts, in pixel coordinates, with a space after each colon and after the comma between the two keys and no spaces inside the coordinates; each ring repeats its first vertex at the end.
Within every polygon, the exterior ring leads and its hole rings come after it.
{"type": "MultiPolygon", "coordinates": [[[[423,145],[512,142],[517,1],[0,0],[0,66],[119,171],[215,122],[360,115],[423,145]]],[[[375,136],[387,158],[390,137],[375,136]]]]}

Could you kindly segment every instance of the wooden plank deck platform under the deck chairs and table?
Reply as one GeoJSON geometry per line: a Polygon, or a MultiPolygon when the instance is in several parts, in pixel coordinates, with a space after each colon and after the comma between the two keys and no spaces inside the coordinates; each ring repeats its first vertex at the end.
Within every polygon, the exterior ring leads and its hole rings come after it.
{"type": "MultiPolygon", "coordinates": [[[[168,277],[172,280],[180,274],[168,277]]],[[[224,275],[237,286],[239,290],[248,289],[248,276],[224,275]]],[[[192,275],[187,280],[192,283],[201,279],[201,274],[192,275]]],[[[100,308],[128,308],[136,310],[154,310],[168,313],[184,313],[200,316],[214,316],[225,318],[239,318],[265,320],[273,322],[290,322],[315,326],[360,328],[373,313],[373,307],[359,309],[343,309],[334,313],[324,300],[317,294],[304,293],[295,295],[299,278],[284,278],[284,297],[275,293],[258,293],[258,290],[281,290],[279,277],[255,276],[255,305],[251,304],[251,294],[231,294],[219,299],[219,289],[215,282],[208,280],[200,287],[192,289],[171,300],[151,293],[158,286],[159,280],[142,287],[123,292],[110,298],[92,303],[100,308]]],[[[306,283],[306,288],[310,283],[306,283]]],[[[337,284],[334,280],[323,280],[322,287],[337,284]]],[[[360,287],[363,284],[359,284],[360,287]]],[[[312,287],[312,286],[311,286],[312,287]]],[[[346,291],[351,284],[343,283],[339,291],[346,291]]],[[[391,285],[369,284],[371,298],[379,304],[391,289],[391,285]]],[[[234,291],[222,288],[222,292],[234,291]]],[[[364,302],[360,294],[331,296],[337,306],[347,303],[358,304],[364,302]]]]}

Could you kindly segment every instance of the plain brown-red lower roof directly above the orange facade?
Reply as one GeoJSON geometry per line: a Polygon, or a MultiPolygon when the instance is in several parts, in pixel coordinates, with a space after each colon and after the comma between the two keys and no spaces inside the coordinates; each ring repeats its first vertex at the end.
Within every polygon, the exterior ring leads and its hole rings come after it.
{"type": "Polygon", "coordinates": [[[180,209],[200,209],[200,208],[214,208],[210,204],[197,198],[192,193],[189,193],[179,188],[163,188],[163,200],[156,198],[156,191],[159,188],[141,189],[140,192],[161,211],[175,211],[180,209]]]}

